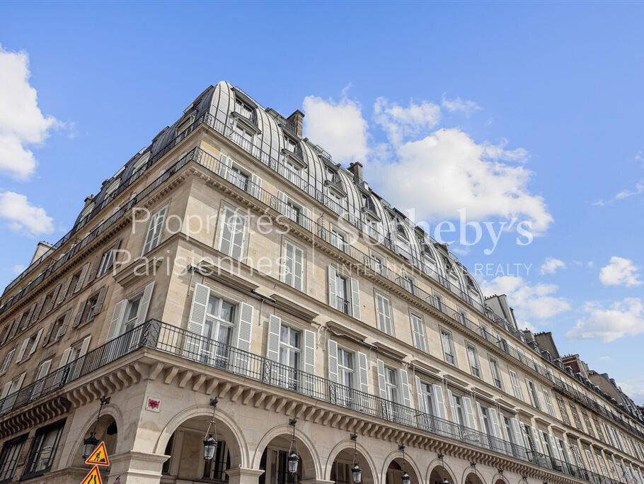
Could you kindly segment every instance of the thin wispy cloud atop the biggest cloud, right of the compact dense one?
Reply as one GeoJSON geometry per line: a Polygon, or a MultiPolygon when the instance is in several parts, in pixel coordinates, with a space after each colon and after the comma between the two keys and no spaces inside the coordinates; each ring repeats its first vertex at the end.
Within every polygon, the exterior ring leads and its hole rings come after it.
{"type": "Polygon", "coordinates": [[[374,104],[374,119],[395,146],[400,145],[406,137],[434,128],[440,118],[440,106],[429,101],[422,101],[420,104],[410,101],[407,108],[396,103],[390,104],[384,98],[376,99],[374,104]]]}

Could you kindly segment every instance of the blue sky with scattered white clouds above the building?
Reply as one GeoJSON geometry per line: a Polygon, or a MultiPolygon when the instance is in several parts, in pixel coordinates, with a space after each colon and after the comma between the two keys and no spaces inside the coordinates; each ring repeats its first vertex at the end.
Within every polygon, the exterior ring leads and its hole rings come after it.
{"type": "Polygon", "coordinates": [[[305,111],[311,140],[362,159],[373,188],[418,220],[457,220],[459,206],[532,220],[531,244],[504,232],[492,254],[485,239],[454,248],[472,270],[504,264],[478,277],[484,288],[644,403],[643,14],[635,2],[5,2],[0,67],[27,55],[38,105],[31,118],[0,109],[0,145],[25,157],[0,152],[0,284],[225,79],[305,111]]]}

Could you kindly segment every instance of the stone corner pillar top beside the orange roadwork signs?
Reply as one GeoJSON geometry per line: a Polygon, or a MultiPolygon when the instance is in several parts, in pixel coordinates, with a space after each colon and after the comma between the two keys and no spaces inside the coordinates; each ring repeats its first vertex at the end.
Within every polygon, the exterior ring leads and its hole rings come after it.
{"type": "Polygon", "coordinates": [[[159,484],[161,468],[170,456],[128,451],[110,456],[109,484],[159,484]]]}

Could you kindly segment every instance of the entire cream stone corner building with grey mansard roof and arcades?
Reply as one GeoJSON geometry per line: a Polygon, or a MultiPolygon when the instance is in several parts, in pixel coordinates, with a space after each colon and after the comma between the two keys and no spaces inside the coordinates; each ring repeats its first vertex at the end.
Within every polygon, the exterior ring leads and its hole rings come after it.
{"type": "Polygon", "coordinates": [[[211,86],[40,244],[0,299],[0,483],[79,482],[95,434],[108,483],[644,484],[638,407],[302,118],[211,86]]]}

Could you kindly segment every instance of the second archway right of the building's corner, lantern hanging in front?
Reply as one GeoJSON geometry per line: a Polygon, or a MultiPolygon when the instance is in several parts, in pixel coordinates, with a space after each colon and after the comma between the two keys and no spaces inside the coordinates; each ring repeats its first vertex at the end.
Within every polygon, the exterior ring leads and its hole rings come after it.
{"type": "Polygon", "coordinates": [[[321,478],[321,467],[312,441],[292,424],[280,425],[265,434],[255,451],[253,468],[264,471],[258,484],[299,484],[303,480],[321,478]],[[294,474],[289,472],[288,465],[291,451],[299,458],[294,474]]]}

